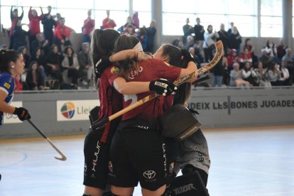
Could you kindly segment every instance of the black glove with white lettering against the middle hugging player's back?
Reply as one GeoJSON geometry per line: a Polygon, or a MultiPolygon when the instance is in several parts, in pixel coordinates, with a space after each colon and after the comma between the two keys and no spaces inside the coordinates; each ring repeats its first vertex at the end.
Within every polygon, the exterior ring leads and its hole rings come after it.
{"type": "Polygon", "coordinates": [[[177,87],[173,84],[173,82],[160,78],[158,80],[151,81],[149,89],[157,94],[168,96],[170,94],[175,94],[177,87]]]}

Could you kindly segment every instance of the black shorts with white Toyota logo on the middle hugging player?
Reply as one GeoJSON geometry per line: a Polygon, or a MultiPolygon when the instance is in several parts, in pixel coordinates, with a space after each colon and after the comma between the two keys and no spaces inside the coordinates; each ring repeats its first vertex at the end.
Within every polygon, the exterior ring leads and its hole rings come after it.
{"type": "Polygon", "coordinates": [[[121,122],[111,142],[110,160],[111,185],[135,187],[140,182],[147,190],[157,190],[166,183],[165,143],[159,132],[148,126],[121,122]]]}

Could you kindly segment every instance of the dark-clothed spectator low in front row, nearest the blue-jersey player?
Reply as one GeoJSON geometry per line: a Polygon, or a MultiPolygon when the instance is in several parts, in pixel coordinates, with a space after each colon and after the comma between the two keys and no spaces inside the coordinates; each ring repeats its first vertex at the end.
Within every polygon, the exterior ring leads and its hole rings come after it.
{"type": "Polygon", "coordinates": [[[38,62],[32,61],[26,75],[26,85],[29,90],[44,89],[45,78],[40,70],[38,70],[38,62]]]}

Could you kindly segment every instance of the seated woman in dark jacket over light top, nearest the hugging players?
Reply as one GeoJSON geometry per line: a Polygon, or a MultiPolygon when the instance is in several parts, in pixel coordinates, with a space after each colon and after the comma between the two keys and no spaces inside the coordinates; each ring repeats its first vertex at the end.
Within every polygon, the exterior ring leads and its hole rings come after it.
{"type": "Polygon", "coordinates": [[[79,62],[77,61],[77,55],[71,46],[67,46],[64,51],[64,58],[62,60],[62,68],[67,72],[67,77],[72,79],[72,84],[77,87],[77,80],[79,79],[79,62]]]}

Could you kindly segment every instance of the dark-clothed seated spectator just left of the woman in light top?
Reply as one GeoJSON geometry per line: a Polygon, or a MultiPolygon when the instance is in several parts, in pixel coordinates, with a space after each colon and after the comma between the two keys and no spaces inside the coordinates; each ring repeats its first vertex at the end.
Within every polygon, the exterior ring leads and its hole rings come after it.
{"type": "Polygon", "coordinates": [[[46,57],[46,67],[45,67],[45,72],[54,77],[55,80],[58,80],[58,83],[61,84],[63,82],[62,78],[62,66],[61,62],[63,60],[63,55],[58,53],[58,46],[57,45],[52,45],[51,50],[46,57]]]}

